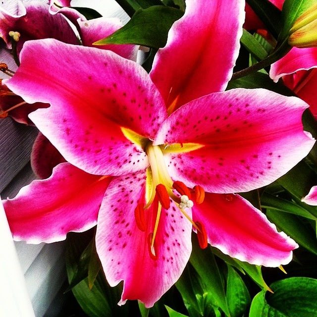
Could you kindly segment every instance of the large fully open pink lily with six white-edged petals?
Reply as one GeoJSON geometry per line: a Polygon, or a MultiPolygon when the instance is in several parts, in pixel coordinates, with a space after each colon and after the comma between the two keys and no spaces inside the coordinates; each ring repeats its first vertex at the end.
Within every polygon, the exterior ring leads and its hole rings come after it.
{"type": "Polygon", "coordinates": [[[29,116],[70,162],[4,201],[14,238],[63,239],[95,224],[100,208],[97,252],[109,284],[124,281],[120,305],[159,300],[189,260],[192,229],[202,248],[252,264],[287,264],[298,247],[234,193],[271,183],[309,153],[307,104],[263,89],[223,92],[244,1],[212,3],[186,2],[150,76],[112,52],[49,39],[26,43],[5,82],[51,105],[29,116]]]}

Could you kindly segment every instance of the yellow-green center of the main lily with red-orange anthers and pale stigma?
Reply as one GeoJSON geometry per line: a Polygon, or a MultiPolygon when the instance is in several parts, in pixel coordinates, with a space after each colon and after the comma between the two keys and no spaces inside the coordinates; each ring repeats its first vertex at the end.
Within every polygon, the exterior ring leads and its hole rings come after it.
{"type": "Polygon", "coordinates": [[[148,237],[149,252],[152,259],[157,259],[155,239],[159,228],[159,219],[162,208],[168,210],[170,203],[174,202],[179,211],[192,223],[198,234],[198,241],[202,248],[207,247],[207,234],[202,223],[194,222],[186,213],[186,208],[192,208],[195,204],[201,204],[205,198],[204,189],[196,185],[194,188],[188,188],[181,181],[173,181],[168,173],[164,154],[170,153],[186,153],[202,147],[200,144],[168,144],[153,145],[152,141],[144,138],[137,133],[121,128],[123,134],[133,143],[141,146],[146,152],[150,166],[147,168],[146,177],[146,204],[138,204],[135,209],[135,220],[141,231],[146,231],[147,223],[145,220],[145,212],[151,206],[156,211],[156,221],[154,228],[148,237]]]}

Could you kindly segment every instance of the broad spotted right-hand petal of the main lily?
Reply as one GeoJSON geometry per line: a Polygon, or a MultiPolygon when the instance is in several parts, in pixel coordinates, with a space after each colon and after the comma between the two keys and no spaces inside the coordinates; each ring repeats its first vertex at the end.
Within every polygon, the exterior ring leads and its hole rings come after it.
{"type": "Polygon", "coordinates": [[[154,144],[204,145],[165,155],[174,180],[212,193],[246,192],[273,182],[310,152],[315,140],[302,125],[307,107],[264,89],[214,93],[172,113],[154,144]]]}

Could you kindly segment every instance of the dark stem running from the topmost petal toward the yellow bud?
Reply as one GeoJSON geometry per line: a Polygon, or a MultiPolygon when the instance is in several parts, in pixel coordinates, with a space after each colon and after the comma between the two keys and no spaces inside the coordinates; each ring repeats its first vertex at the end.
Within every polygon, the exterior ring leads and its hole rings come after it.
{"type": "Polygon", "coordinates": [[[240,71],[237,71],[233,73],[231,80],[238,79],[241,77],[244,77],[250,73],[253,73],[255,71],[258,71],[260,69],[263,69],[270,64],[274,63],[284,55],[286,55],[289,51],[291,50],[291,47],[288,45],[288,38],[284,40],[284,42],[275,49],[273,53],[268,55],[266,58],[263,60],[259,61],[258,63],[247,67],[245,69],[242,69],[240,71]]]}

